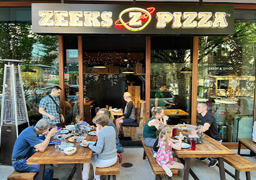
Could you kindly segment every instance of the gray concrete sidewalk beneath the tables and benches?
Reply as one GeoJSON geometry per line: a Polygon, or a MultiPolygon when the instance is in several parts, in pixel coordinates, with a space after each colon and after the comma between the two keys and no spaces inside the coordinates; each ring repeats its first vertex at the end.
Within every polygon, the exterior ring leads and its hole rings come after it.
{"type": "MultiPolygon", "coordinates": [[[[237,150],[234,150],[234,152],[237,152],[237,150]]],[[[242,149],[242,154],[249,154],[248,149],[242,149]]],[[[143,160],[143,148],[124,148],[124,152],[122,153],[122,163],[132,163],[133,167],[125,168],[120,166],[120,175],[116,176],[116,179],[118,180],[130,180],[130,179],[155,179],[155,175],[152,174],[151,167],[148,163],[148,160],[143,160]]],[[[245,157],[248,158],[248,160],[256,163],[255,157],[245,157]]],[[[191,160],[191,166],[193,172],[196,173],[199,179],[207,179],[207,180],[217,180],[219,178],[219,168],[208,167],[209,161],[201,162],[198,159],[192,158],[191,160]],[[210,175],[210,176],[209,176],[210,175]]],[[[234,173],[235,170],[233,167],[229,166],[228,164],[224,164],[225,168],[228,169],[230,172],[234,173]]],[[[69,173],[72,170],[72,165],[70,164],[61,164],[60,167],[54,167],[54,178],[58,178],[60,180],[67,179],[69,176],[69,173]]],[[[8,175],[13,172],[12,166],[0,166],[0,179],[4,180],[7,179],[8,175]]],[[[183,170],[179,170],[178,176],[173,177],[173,180],[181,180],[183,179],[183,170]]],[[[76,173],[73,176],[73,180],[76,180],[76,173]]],[[[93,171],[92,167],[90,170],[89,179],[93,179],[93,171]]],[[[165,180],[165,178],[163,178],[165,180]]],[[[192,176],[189,177],[189,179],[193,179],[192,176]]],[[[231,176],[226,174],[226,180],[233,179],[231,176]]],[[[246,179],[245,173],[240,173],[240,179],[246,179]]],[[[251,179],[256,179],[256,171],[251,172],[251,179]]]]}

